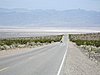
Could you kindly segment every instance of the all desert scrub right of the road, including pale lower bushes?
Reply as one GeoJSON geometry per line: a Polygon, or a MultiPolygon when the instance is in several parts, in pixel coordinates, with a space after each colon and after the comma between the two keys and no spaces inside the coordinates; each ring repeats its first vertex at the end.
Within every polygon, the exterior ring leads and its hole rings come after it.
{"type": "Polygon", "coordinates": [[[69,39],[90,59],[100,61],[100,33],[70,34],[69,39]]]}

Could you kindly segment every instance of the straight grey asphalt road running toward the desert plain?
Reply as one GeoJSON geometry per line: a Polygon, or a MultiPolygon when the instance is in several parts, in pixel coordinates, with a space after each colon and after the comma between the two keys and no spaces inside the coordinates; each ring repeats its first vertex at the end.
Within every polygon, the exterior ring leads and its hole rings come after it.
{"type": "Polygon", "coordinates": [[[0,58],[0,75],[59,75],[66,52],[67,36],[63,43],[0,58]]]}

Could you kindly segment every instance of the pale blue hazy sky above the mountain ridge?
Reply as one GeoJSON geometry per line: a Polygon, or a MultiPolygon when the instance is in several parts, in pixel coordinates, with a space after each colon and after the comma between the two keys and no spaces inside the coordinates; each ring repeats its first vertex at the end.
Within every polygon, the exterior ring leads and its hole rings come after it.
{"type": "Polygon", "coordinates": [[[100,0],[0,0],[0,8],[86,9],[100,11],[100,0]]]}

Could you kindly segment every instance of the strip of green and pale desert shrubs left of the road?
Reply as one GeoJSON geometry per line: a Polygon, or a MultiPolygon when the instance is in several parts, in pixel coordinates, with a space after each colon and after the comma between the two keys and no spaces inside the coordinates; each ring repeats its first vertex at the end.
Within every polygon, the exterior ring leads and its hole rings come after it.
{"type": "Polygon", "coordinates": [[[0,39],[0,50],[9,50],[15,48],[36,47],[59,42],[62,35],[39,36],[39,37],[20,37],[0,39]]]}

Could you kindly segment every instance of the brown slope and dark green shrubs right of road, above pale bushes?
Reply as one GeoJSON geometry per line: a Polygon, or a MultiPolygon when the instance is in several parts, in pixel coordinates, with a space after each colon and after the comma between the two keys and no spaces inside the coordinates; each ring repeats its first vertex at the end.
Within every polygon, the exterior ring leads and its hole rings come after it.
{"type": "Polygon", "coordinates": [[[70,34],[70,41],[80,45],[100,46],[100,33],[70,34]]]}

